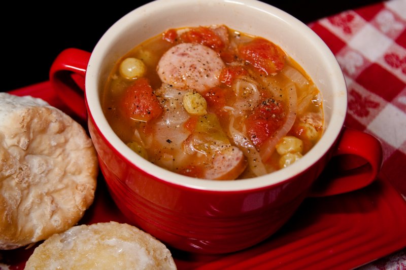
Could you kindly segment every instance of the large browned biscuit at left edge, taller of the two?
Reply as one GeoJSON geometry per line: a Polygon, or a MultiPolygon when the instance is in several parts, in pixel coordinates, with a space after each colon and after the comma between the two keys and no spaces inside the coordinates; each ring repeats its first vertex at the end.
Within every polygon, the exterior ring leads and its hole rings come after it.
{"type": "Polygon", "coordinates": [[[94,200],[97,174],[80,124],[42,99],[0,93],[0,249],[74,226],[94,200]]]}

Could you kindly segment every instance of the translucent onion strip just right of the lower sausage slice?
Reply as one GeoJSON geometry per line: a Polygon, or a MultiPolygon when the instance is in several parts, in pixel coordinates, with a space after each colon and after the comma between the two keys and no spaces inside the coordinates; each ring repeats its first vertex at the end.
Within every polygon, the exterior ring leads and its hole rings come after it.
{"type": "Polygon", "coordinates": [[[238,146],[248,159],[248,166],[256,176],[266,174],[266,169],[262,163],[259,152],[252,141],[240,131],[234,128],[234,117],[230,119],[229,132],[236,146],[238,146]]]}

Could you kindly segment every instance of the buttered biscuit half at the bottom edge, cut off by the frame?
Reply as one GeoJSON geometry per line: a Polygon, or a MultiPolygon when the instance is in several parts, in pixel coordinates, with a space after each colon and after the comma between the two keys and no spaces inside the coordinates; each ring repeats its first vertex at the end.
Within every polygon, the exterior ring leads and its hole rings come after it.
{"type": "Polygon", "coordinates": [[[170,250],[137,227],[115,221],[74,226],[39,245],[28,269],[176,269],[170,250]]]}

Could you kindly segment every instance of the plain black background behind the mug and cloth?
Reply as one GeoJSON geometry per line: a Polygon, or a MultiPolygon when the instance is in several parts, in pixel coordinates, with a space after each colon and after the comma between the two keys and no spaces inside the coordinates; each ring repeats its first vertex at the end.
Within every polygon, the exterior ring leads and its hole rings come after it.
{"type": "MultiPolygon", "coordinates": [[[[176,1],[176,0],[172,0],[176,1]]],[[[0,16],[2,53],[0,91],[9,91],[48,80],[55,57],[66,48],[91,52],[98,39],[120,17],[150,1],[8,2],[0,16]]],[[[345,10],[378,3],[378,0],[266,1],[304,23],[345,10]]]]}

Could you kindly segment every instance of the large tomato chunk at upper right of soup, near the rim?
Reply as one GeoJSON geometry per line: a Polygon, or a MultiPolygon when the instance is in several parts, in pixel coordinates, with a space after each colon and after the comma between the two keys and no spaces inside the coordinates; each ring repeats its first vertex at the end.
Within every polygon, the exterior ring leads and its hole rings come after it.
{"type": "Polygon", "coordinates": [[[238,56],[266,75],[278,73],[285,66],[285,53],[264,38],[254,38],[239,47],[238,56]]]}

